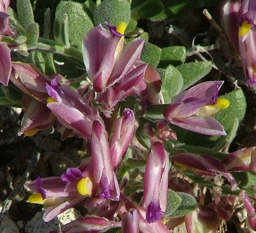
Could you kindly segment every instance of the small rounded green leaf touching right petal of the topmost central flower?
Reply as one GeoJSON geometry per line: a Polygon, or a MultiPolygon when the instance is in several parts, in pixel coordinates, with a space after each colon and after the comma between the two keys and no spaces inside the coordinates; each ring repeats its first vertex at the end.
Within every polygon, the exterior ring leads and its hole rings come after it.
{"type": "Polygon", "coordinates": [[[152,67],[156,68],[161,56],[161,48],[151,44],[149,42],[145,43],[141,52],[140,59],[152,67]]]}

